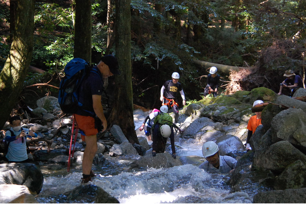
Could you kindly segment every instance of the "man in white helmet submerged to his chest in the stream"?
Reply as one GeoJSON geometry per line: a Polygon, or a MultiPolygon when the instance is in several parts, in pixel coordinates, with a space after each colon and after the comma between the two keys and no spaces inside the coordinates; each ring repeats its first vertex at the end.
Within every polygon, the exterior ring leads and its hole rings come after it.
{"type": "Polygon", "coordinates": [[[207,161],[203,162],[199,168],[209,173],[227,173],[236,168],[237,160],[230,156],[220,156],[219,147],[213,141],[203,144],[202,153],[207,161]]]}

